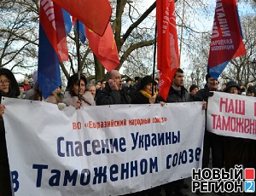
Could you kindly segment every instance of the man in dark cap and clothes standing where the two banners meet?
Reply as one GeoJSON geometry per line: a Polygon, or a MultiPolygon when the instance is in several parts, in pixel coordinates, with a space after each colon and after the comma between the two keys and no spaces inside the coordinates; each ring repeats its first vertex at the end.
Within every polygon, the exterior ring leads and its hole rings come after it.
{"type": "MultiPolygon", "coordinates": [[[[195,95],[195,101],[208,101],[208,97],[211,95],[211,91],[218,90],[218,80],[212,78],[207,73],[207,84],[204,89],[200,89],[195,95]]],[[[207,112],[207,111],[206,111],[207,112]]],[[[221,135],[215,135],[205,130],[204,147],[202,157],[202,168],[209,167],[210,149],[212,149],[212,167],[223,168],[224,167],[224,138],[221,135]]]]}

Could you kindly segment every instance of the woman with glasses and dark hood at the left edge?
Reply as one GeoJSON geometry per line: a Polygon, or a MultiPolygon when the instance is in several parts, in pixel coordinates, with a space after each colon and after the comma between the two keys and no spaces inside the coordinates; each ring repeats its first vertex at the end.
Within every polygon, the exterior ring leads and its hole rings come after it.
{"type": "MultiPolygon", "coordinates": [[[[2,96],[17,98],[20,88],[14,74],[9,69],[0,68],[0,103],[2,96]]],[[[9,160],[3,124],[4,105],[0,104],[0,195],[12,195],[9,160]]]]}

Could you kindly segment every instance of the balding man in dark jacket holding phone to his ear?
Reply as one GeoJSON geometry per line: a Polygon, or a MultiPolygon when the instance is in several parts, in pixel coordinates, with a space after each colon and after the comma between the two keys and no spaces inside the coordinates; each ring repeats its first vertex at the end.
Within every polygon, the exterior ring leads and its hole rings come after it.
{"type": "Polygon", "coordinates": [[[123,89],[121,74],[117,70],[107,73],[107,81],[105,89],[96,93],[97,106],[131,103],[131,98],[123,89]]]}

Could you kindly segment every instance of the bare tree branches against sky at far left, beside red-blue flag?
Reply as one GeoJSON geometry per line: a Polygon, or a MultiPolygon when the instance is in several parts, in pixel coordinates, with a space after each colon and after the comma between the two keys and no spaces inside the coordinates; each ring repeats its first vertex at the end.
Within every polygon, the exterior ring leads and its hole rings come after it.
{"type": "Polygon", "coordinates": [[[28,68],[36,64],[38,17],[35,15],[37,14],[37,9],[26,1],[4,1],[1,3],[1,67],[9,66],[14,72],[26,72],[28,68]],[[28,8],[31,14],[27,14],[28,8]],[[30,63],[26,63],[27,61],[30,63]],[[19,67],[19,69],[15,69],[15,67],[19,67]]]}

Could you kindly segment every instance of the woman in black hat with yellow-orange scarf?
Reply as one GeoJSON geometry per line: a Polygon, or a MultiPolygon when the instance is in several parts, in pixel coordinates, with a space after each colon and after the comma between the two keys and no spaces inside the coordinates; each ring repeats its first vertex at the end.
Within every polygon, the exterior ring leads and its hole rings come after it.
{"type": "MultiPolygon", "coordinates": [[[[154,82],[154,84],[156,84],[154,82]]],[[[139,92],[135,95],[132,103],[134,104],[153,104],[155,103],[156,93],[152,96],[153,78],[145,76],[139,86],[139,92]]]]}

